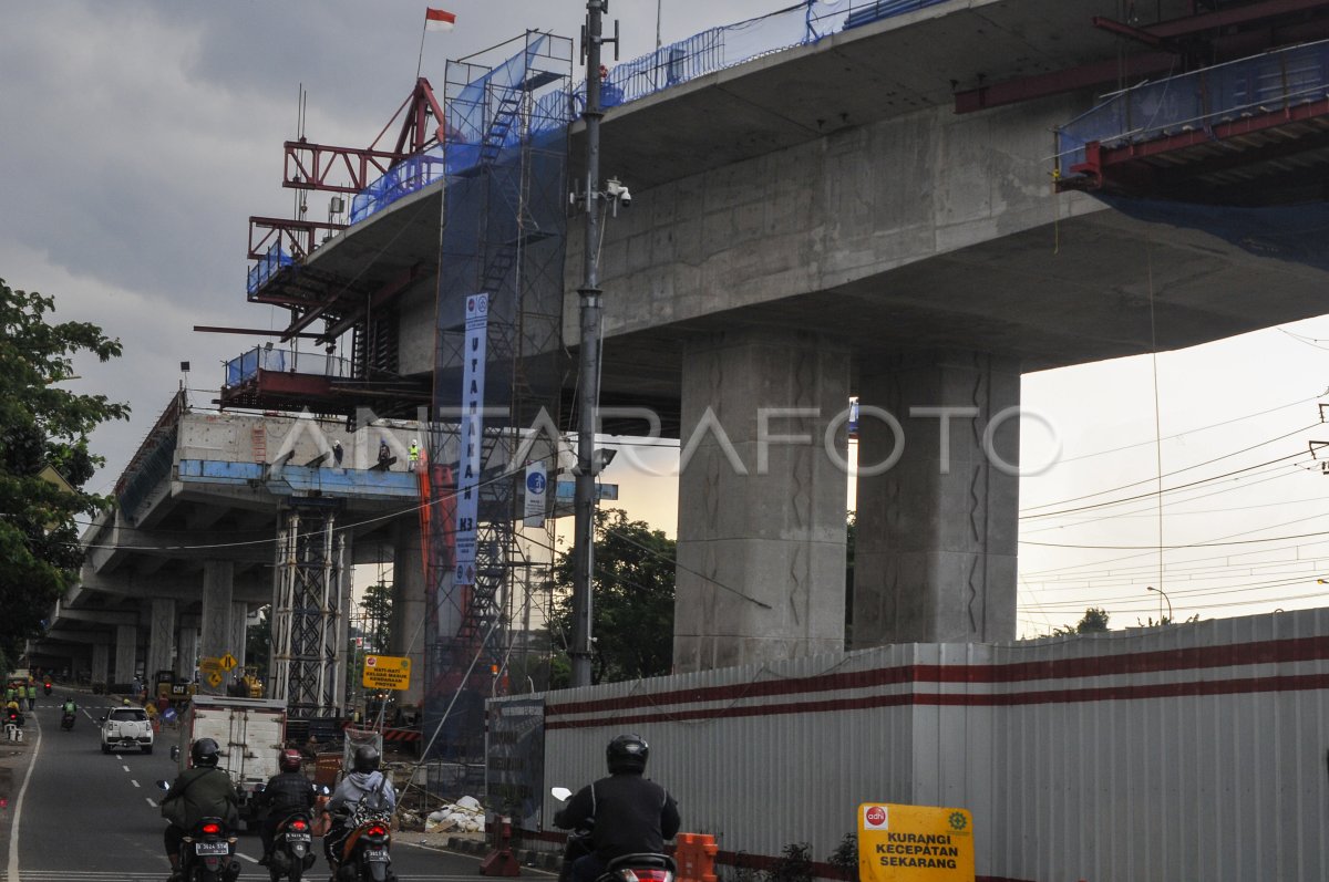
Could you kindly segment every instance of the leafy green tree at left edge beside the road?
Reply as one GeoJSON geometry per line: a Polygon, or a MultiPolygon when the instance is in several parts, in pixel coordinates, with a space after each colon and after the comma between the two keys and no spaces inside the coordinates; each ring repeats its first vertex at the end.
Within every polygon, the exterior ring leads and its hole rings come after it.
{"type": "Polygon", "coordinates": [[[93,324],[51,324],[54,308],[54,298],[0,279],[0,667],[41,632],[51,604],[78,578],[74,515],[112,503],[82,490],[102,464],[88,434],[129,418],[126,404],[56,385],[74,376],[80,352],[108,361],[121,347],[93,324]]]}

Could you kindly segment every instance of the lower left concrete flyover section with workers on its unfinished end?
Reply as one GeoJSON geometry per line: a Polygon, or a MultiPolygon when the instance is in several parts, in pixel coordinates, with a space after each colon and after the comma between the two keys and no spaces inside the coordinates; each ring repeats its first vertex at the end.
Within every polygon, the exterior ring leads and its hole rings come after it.
{"type": "Polygon", "coordinates": [[[347,432],[308,414],[183,409],[163,418],[121,484],[132,491],[85,531],[80,582],[31,647],[35,663],[106,684],[165,669],[193,676],[202,656],[230,654],[243,667],[247,616],[278,592],[286,513],[311,506],[336,511],[343,626],[352,563],[401,563],[399,612],[421,619],[420,489],[408,470],[419,437],[405,421],[347,432]],[[377,466],[381,444],[387,468],[377,466]]]}

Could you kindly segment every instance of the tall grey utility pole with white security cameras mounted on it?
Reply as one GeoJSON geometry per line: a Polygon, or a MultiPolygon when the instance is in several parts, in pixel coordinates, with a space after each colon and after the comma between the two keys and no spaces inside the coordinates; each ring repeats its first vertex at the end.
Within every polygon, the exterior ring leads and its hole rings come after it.
{"type": "MultiPolygon", "coordinates": [[[[591,574],[595,546],[595,412],[599,409],[601,290],[599,243],[599,106],[601,16],[607,0],[587,0],[582,27],[586,60],[586,242],[581,295],[581,376],[577,395],[577,484],[573,497],[573,685],[590,685],[591,574]]],[[[614,48],[618,48],[617,37],[614,48]]]]}

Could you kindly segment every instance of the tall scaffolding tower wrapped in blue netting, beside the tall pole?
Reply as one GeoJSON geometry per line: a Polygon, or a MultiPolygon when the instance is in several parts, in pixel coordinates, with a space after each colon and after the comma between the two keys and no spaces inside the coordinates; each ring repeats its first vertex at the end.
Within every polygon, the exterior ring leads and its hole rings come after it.
{"type": "MultiPolygon", "coordinates": [[[[445,77],[449,175],[432,464],[464,454],[465,304],[477,294],[489,303],[473,575],[459,579],[453,567],[455,517],[436,511],[429,519],[425,554],[424,717],[427,733],[439,731],[429,756],[461,765],[482,765],[484,699],[508,692],[514,643],[529,643],[517,631],[532,608],[548,608],[541,592],[550,583],[545,550],[553,549],[553,519],[536,530],[518,525],[526,461],[557,470],[557,438],[530,445],[524,429],[558,425],[566,373],[561,321],[571,54],[570,40],[532,31],[485,53],[497,64],[449,61],[445,77]],[[513,46],[516,53],[504,58],[513,46]],[[453,151],[465,159],[455,161],[453,151]]],[[[432,478],[435,495],[451,478],[441,472],[432,478]]],[[[532,671],[520,676],[524,685],[537,680],[532,671]]]]}

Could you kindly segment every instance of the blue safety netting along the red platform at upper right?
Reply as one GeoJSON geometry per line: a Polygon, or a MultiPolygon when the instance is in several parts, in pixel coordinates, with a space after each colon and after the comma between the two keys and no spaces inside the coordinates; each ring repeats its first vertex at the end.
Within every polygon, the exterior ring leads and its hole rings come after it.
{"type": "Polygon", "coordinates": [[[1208,132],[1213,125],[1329,97],[1329,41],[1310,43],[1144,82],[1107,98],[1057,130],[1063,177],[1084,162],[1084,146],[1143,143],[1208,132]]]}

